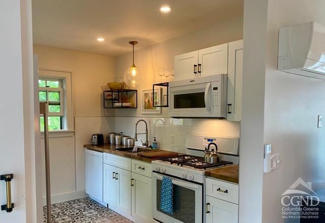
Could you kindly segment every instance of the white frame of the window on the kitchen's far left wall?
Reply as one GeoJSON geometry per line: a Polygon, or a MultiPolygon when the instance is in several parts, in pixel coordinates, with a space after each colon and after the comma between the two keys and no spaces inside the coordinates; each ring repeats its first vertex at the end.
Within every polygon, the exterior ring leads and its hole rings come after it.
{"type": "MultiPolygon", "coordinates": [[[[63,116],[63,131],[73,131],[73,103],[72,103],[72,73],[69,71],[59,71],[51,69],[39,69],[39,79],[61,79],[62,80],[62,94],[60,94],[61,106],[63,109],[60,110],[62,115],[58,113],[49,113],[49,116],[63,116]],[[56,115],[54,115],[56,114],[56,115]]],[[[46,88],[49,89],[49,88],[46,88]]],[[[55,91],[56,88],[50,88],[50,91],[55,91]]],[[[42,87],[40,87],[42,90],[42,87]]],[[[55,131],[55,130],[54,130],[55,131]]],[[[51,131],[51,132],[54,132],[51,131]]],[[[62,131],[62,130],[57,130],[62,131]]]]}

